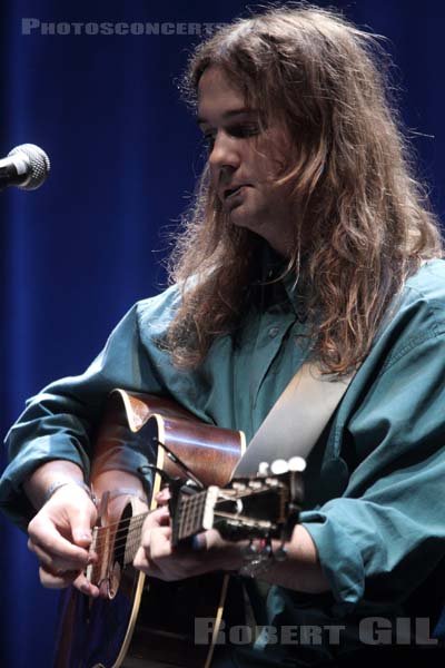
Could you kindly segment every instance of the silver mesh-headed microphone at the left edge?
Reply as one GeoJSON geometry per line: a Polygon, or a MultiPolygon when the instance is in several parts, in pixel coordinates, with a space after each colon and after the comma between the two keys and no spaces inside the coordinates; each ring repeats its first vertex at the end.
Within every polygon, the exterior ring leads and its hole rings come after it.
{"type": "Polygon", "coordinates": [[[0,160],[0,190],[17,186],[36,190],[44,183],[51,168],[49,157],[34,144],[21,144],[0,160]]]}

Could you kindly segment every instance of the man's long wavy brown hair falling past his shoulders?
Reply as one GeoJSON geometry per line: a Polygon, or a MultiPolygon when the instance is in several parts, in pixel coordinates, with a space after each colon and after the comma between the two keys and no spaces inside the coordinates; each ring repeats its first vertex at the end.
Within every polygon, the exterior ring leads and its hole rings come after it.
{"type": "MultiPolygon", "coordinates": [[[[304,285],[317,323],[312,355],[325,373],[359,364],[407,276],[442,256],[389,99],[388,63],[376,37],[330,10],[298,4],[224,27],[196,49],[185,77],[196,106],[202,72],[222,68],[296,147],[277,179],[289,184],[295,205],[286,271],[304,285]]],[[[178,367],[196,367],[216,337],[241,326],[249,288],[261,281],[264,244],[229,223],[206,167],[170,258],[182,298],[167,345],[178,367]]]]}

